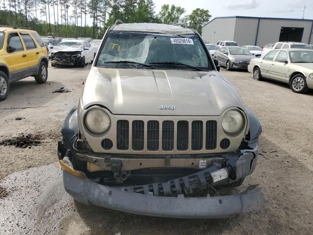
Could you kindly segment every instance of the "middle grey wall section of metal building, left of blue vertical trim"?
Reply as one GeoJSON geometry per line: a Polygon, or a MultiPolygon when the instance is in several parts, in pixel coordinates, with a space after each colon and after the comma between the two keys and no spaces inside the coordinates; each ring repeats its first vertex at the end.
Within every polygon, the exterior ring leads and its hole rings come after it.
{"type": "Polygon", "coordinates": [[[255,45],[259,19],[236,18],[234,41],[239,46],[255,45]]]}

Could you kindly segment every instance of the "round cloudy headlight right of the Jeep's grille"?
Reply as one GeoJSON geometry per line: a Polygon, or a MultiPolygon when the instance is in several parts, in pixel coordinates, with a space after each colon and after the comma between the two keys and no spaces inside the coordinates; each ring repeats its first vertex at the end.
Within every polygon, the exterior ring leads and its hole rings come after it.
{"type": "Polygon", "coordinates": [[[241,130],[244,125],[244,117],[237,110],[230,110],[226,113],[222,121],[222,127],[228,134],[235,134],[241,130]]]}

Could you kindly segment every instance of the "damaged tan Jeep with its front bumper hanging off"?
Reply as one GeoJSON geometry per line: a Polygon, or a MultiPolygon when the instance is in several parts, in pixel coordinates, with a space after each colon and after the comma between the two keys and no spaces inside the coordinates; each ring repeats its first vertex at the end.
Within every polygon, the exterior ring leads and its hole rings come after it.
{"type": "Polygon", "coordinates": [[[261,203],[256,186],[218,191],[254,171],[262,132],[218,70],[192,29],[108,28],[58,142],[66,191],[85,204],[161,217],[221,218],[261,203]]]}

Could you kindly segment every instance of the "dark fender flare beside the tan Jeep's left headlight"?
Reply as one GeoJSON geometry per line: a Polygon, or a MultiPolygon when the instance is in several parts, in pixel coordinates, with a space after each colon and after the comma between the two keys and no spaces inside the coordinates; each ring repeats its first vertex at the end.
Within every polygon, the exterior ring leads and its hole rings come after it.
{"type": "Polygon", "coordinates": [[[66,147],[66,149],[69,149],[70,140],[78,133],[77,108],[73,108],[67,114],[67,117],[65,118],[61,129],[61,133],[63,137],[64,147],[66,147]]]}

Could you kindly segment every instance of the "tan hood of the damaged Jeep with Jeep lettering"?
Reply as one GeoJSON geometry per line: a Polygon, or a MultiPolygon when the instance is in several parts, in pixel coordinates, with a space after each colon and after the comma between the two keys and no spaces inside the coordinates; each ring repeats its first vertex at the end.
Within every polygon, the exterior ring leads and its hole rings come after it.
{"type": "Polygon", "coordinates": [[[116,115],[219,116],[229,107],[245,109],[217,71],[92,67],[80,102],[85,109],[102,105],[116,115]],[[162,105],[175,109],[160,109],[162,105]]]}

